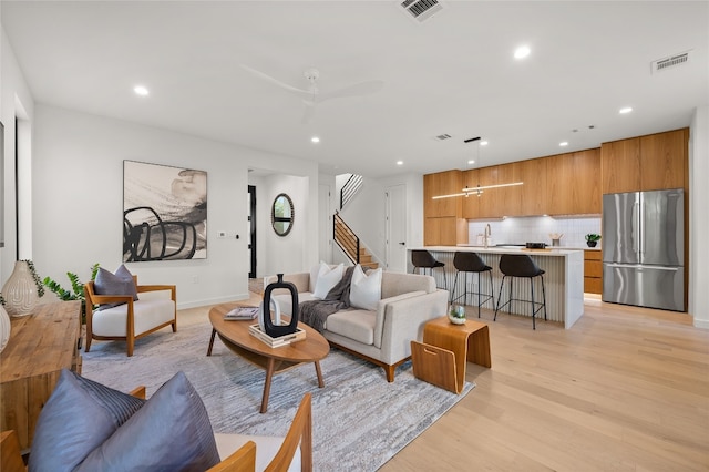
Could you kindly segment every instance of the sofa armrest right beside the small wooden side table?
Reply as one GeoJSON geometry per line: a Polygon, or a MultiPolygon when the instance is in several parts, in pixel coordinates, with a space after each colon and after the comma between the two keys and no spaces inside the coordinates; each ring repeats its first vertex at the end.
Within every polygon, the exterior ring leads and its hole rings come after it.
{"type": "Polygon", "coordinates": [[[411,356],[411,341],[423,338],[427,321],[445,315],[448,297],[448,290],[435,290],[387,304],[381,320],[380,360],[392,365],[411,356]]]}

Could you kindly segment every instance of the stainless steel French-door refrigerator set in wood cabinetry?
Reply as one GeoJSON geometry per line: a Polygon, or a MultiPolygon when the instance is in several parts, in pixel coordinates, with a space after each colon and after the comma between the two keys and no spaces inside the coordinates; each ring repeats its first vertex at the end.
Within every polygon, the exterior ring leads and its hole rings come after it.
{"type": "Polygon", "coordinates": [[[603,300],[685,311],[685,193],[603,196],[603,300]]]}

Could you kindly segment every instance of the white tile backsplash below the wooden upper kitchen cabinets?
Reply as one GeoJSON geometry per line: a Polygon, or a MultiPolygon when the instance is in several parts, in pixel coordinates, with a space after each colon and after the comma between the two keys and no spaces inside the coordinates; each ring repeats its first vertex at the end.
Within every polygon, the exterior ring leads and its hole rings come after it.
{"type": "Polygon", "coordinates": [[[561,247],[586,247],[588,233],[600,233],[600,217],[553,218],[551,216],[534,216],[505,219],[467,222],[470,244],[477,244],[477,235],[485,232],[485,225],[492,229],[492,244],[552,244],[551,233],[563,234],[561,247]]]}

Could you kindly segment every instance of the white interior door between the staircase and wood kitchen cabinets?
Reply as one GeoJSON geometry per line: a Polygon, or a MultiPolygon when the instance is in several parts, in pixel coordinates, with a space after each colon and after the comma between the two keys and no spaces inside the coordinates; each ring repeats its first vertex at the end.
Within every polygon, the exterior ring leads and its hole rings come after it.
{"type": "Polygon", "coordinates": [[[387,270],[407,271],[407,186],[387,188],[387,270]]]}

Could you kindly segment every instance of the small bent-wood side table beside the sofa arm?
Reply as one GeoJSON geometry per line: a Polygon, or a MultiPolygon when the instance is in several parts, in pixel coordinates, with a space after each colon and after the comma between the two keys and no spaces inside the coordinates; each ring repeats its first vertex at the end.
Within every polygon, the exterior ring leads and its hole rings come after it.
{"type": "Polygon", "coordinates": [[[446,316],[433,319],[423,326],[423,342],[411,341],[411,359],[418,379],[460,393],[467,361],[492,367],[487,325],[470,319],[453,325],[446,316]]]}

